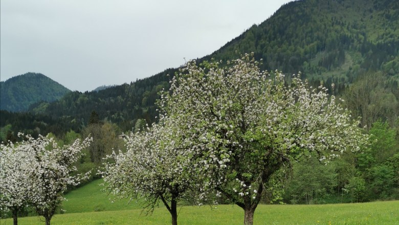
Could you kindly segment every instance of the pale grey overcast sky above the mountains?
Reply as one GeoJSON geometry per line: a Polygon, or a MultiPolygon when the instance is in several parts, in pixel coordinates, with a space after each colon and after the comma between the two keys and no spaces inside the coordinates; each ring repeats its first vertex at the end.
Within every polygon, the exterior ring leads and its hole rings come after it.
{"type": "Polygon", "coordinates": [[[91,91],[211,54],[288,0],[2,0],[0,78],[91,91]]]}

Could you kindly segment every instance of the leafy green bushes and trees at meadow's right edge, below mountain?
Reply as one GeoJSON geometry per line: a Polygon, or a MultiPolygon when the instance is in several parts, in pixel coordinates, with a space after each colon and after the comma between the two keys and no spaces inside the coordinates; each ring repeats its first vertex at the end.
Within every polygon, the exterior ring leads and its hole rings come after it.
{"type": "Polygon", "coordinates": [[[378,120],[368,132],[370,146],[362,152],[343,155],[342,159],[327,166],[315,160],[295,164],[293,177],[284,188],[284,202],[320,204],[397,199],[399,148],[396,130],[388,122],[378,120]],[[329,183],[325,180],[328,177],[331,178],[329,183]],[[307,200],[312,196],[313,201],[307,200]]]}

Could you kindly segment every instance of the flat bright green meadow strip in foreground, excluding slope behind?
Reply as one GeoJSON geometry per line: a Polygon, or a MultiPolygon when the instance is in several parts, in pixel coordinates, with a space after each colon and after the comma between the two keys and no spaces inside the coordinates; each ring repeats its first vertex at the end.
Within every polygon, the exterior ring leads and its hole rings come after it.
{"type": "MultiPolygon", "coordinates": [[[[337,205],[260,205],[254,224],[399,224],[399,201],[378,201],[337,205]]],[[[55,215],[53,225],[62,224],[170,224],[165,208],[152,215],[141,210],[121,210],[55,215]]],[[[179,224],[242,224],[243,211],[236,206],[181,208],[179,224]]],[[[19,219],[20,224],[41,224],[39,217],[19,219]]],[[[12,219],[1,224],[12,224],[12,219]]]]}

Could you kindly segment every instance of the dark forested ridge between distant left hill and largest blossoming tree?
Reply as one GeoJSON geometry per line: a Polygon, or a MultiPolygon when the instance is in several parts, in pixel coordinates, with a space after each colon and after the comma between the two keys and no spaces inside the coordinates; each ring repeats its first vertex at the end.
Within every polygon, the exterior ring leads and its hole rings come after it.
{"type": "Polygon", "coordinates": [[[159,98],[157,93],[163,88],[169,88],[171,76],[167,74],[173,75],[174,72],[175,69],[168,69],[150,78],[116,85],[98,92],[70,92],[58,101],[32,105],[29,111],[53,118],[68,118],[71,126],[78,126],[86,125],[94,110],[100,119],[116,123],[123,131],[127,131],[134,127],[139,119],[145,119],[147,123],[155,122],[158,115],[155,106],[159,98]]]}

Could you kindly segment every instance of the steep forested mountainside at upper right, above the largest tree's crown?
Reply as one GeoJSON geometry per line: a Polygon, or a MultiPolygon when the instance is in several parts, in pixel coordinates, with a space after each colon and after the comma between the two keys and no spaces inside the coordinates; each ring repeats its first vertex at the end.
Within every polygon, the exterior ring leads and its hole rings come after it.
{"type": "Polygon", "coordinates": [[[254,52],[262,69],[353,82],[365,71],[399,74],[399,2],[296,1],[207,57],[254,52]]]}

